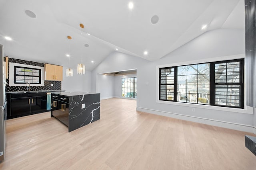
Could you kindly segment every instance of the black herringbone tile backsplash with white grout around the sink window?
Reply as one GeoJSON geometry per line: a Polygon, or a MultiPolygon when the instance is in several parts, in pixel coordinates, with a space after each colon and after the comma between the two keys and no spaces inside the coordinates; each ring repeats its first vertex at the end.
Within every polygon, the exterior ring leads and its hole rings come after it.
{"type": "MultiPolygon", "coordinates": [[[[44,67],[44,63],[37,63],[33,61],[26,61],[26,60],[20,60],[20,59],[12,59],[8,58],[9,63],[18,63],[18,64],[27,64],[32,66],[41,66],[44,67]]],[[[9,64],[8,64],[9,66],[9,64]]],[[[8,68],[9,71],[9,68],[8,68]]],[[[10,76],[10,74],[8,74],[10,76]]],[[[6,86],[6,92],[16,92],[16,91],[27,91],[26,86],[9,86],[9,77],[6,80],[7,86],[6,86]]],[[[44,81],[44,86],[30,86],[31,91],[36,90],[61,90],[61,81],[44,81]],[[53,86],[51,87],[51,84],[53,86]]]]}

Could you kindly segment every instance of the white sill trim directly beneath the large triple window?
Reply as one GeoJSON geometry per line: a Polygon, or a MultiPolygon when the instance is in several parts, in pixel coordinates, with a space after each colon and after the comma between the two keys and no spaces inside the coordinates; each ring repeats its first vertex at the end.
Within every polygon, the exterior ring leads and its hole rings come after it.
{"type": "Polygon", "coordinates": [[[156,100],[156,103],[185,106],[185,107],[196,107],[196,108],[201,108],[201,109],[221,110],[221,111],[229,111],[229,112],[236,112],[236,113],[253,114],[253,107],[248,107],[248,106],[245,106],[244,109],[240,109],[240,108],[209,106],[209,105],[190,104],[190,103],[181,103],[181,102],[169,102],[169,101],[162,101],[162,100],[156,100]]]}

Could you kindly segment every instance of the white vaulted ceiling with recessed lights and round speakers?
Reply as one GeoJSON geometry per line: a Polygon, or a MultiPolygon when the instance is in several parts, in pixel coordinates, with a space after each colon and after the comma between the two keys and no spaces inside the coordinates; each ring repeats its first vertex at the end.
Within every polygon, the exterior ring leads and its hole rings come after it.
{"type": "Polygon", "coordinates": [[[93,70],[116,48],[153,61],[206,31],[244,29],[244,0],[131,0],[132,10],[129,2],[0,0],[0,44],[11,58],[72,68],[82,58],[86,69],[93,70]],[[28,17],[25,10],[37,17],[28,17]],[[156,24],[150,22],[154,15],[159,16],[156,24]],[[13,40],[7,41],[4,36],[13,40]]]}

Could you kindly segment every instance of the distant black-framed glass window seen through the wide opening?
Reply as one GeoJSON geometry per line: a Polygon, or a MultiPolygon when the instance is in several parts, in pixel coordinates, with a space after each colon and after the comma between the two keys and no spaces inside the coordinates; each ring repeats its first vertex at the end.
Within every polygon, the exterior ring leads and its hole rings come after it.
{"type": "Polygon", "coordinates": [[[137,98],[137,77],[122,78],[122,97],[137,98]]]}

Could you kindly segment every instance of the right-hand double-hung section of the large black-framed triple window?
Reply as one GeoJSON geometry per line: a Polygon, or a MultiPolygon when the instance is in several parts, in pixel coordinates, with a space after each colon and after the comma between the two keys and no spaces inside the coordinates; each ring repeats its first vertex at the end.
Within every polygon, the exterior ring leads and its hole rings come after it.
{"type": "Polygon", "coordinates": [[[244,106],[244,60],[216,62],[212,66],[212,104],[244,106]]]}

